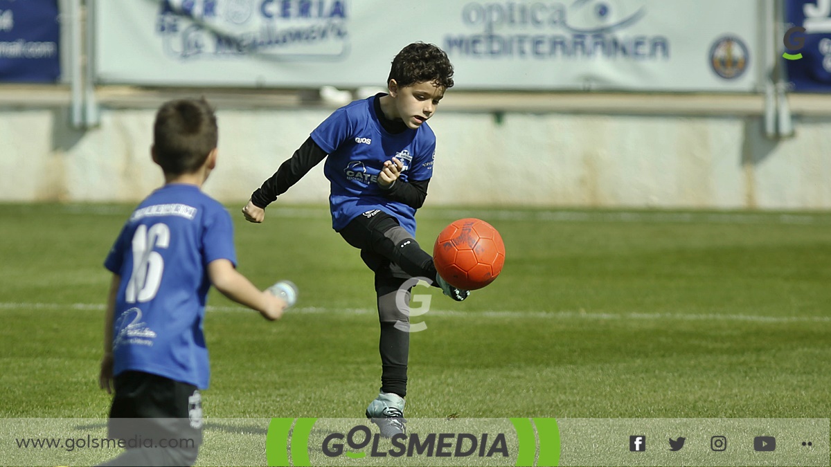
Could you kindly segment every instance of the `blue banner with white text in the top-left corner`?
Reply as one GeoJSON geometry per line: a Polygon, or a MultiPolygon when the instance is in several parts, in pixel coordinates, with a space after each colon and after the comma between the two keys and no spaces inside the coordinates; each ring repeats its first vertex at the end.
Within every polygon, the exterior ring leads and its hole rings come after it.
{"type": "Polygon", "coordinates": [[[0,0],[0,81],[57,81],[60,33],[57,0],[0,0]]]}

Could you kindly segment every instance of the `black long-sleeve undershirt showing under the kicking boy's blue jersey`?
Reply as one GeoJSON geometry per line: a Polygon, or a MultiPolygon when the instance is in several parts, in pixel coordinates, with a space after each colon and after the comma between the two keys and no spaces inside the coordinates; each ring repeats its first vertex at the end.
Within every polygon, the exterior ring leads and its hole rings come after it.
{"type": "MultiPolygon", "coordinates": [[[[398,133],[406,130],[406,125],[401,120],[389,120],[381,111],[380,97],[376,96],[374,110],[381,122],[381,126],[390,133],[398,133]]],[[[258,208],[265,209],[268,204],[271,204],[277,197],[296,184],[303,175],[306,175],[309,170],[312,170],[321,160],[326,159],[327,152],[317,145],[308,137],[303,144],[294,151],[292,157],[283,164],[271,178],[263,182],[263,185],[254,190],[251,194],[251,202],[258,208]]],[[[381,193],[387,199],[406,204],[413,209],[419,209],[427,197],[427,185],[430,184],[430,179],[426,180],[410,180],[403,181],[396,179],[389,187],[381,188],[381,193]]]]}

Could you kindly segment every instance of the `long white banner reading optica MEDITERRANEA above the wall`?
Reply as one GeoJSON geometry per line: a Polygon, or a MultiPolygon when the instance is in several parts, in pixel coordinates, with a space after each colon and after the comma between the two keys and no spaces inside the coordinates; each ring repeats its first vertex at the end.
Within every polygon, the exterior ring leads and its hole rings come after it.
{"type": "Polygon", "coordinates": [[[410,42],[478,90],[755,91],[754,0],[96,2],[99,82],[384,86],[410,42]],[[718,14],[713,14],[718,12],[718,14]]]}

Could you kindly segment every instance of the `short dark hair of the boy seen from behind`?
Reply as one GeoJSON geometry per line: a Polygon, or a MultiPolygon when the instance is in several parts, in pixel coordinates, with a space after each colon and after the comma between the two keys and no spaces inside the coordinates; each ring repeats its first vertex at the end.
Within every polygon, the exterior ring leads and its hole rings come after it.
{"type": "Polygon", "coordinates": [[[165,102],[156,113],[153,147],[165,174],[199,170],[217,145],[214,109],[204,98],[165,102]]]}

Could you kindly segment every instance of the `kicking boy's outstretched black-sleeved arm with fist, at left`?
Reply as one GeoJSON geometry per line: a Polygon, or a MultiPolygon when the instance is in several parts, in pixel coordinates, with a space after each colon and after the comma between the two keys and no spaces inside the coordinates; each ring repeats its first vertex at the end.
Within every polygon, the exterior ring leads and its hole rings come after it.
{"type": "MultiPolygon", "coordinates": [[[[296,184],[297,181],[302,179],[303,175],[306,175],[309,170],[312,170],[312,167],[320,164],[321,160],[326,159],[327,155],[327,152],[322,150],[321,147],[317,145],[314,140],[312,140],[312,137],[309,136],[307,140],[304,141],[296,151],[294,151],[294,155],[292,155],[290,159],[283,162],[277,172],[275,172],[270,179],[263,182],[263,185],[251,194],[251,201],[247,206],[248,209],[243,209],[243,214],[246,214],[246,219],[248,219],[248,214],[253,214],[256,209],[265,209],[268,204],[271,204],[279,195],[285,193],[292,187],[293,184],[296,184]],[[246,210],[248,210],[249,213],[245,213],[246,210]]],[[[263,222],[262,219],[248,220],[252,222],[263,222]]]]}

